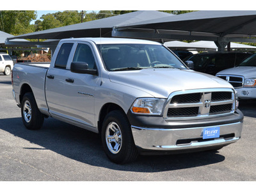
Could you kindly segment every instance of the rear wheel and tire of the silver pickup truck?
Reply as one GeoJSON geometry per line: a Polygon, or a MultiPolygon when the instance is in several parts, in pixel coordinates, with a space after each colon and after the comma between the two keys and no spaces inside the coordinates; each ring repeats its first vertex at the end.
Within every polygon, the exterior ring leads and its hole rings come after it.
{"type": "Polygon", "coordinates": [[[22,122],[27,129],[41,129],[44,115],[39,111],[33,93],[25,93],[21,102],[22,122]]]}

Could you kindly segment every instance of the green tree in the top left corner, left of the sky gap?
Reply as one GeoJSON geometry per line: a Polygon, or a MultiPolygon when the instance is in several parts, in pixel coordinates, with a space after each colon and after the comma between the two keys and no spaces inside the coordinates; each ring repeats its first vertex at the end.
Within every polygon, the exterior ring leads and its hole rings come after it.
{"type": "Polygon", "coordinates": [[[0,30],[12,35],[35,31],[30,22],[36,19],[36,11],[0,11],[0,30]]]}

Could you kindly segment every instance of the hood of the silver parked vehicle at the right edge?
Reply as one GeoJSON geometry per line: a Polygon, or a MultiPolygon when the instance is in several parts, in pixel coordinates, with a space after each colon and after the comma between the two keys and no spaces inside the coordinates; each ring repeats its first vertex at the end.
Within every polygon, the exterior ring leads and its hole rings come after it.
{"type": "Polygon", "coordinates": [[[246,78],[256,77],[256,67],[234,67],[221,70],[216,75],[235,75],[235,76],[244,76],[246,78]]]}

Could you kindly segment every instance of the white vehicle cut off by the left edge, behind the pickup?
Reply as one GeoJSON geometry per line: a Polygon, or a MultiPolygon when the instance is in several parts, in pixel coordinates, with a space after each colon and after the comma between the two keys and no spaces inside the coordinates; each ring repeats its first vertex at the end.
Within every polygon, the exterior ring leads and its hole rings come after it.
{"type": "Polygon", "coordinates": [[[13,61],[9,54],[6,52],[0,52],[0,72],[4,75],[9,76],[12,72],[13,61]]]}

